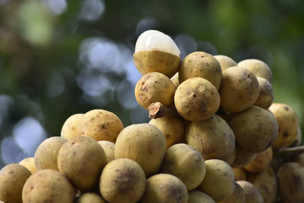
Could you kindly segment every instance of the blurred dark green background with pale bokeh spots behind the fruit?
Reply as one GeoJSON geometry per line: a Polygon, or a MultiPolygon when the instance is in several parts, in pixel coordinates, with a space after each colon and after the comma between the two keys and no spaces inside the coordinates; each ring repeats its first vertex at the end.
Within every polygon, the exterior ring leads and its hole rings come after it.
{"type": "Polygon", "coordinates": [[[60,136],[72,114],[104,109],[148,122],[133,63],[145,30],[194,51],[257,58],[274,74],[275,102],[304,124],[304,1],[0,0],[0,168],[60,136]]]}

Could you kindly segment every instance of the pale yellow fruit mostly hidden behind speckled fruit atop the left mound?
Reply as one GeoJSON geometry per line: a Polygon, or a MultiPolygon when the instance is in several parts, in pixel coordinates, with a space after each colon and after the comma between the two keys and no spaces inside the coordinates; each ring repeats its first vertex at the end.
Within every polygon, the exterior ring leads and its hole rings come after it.
{"type": "Polygon", "coordinates": [[[66,119],[61,128],[61,138],[69,140],[77,136],[77,124],[83,115],[84,114],[74,114],[66,119]]]}

